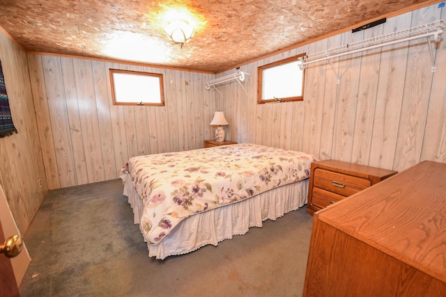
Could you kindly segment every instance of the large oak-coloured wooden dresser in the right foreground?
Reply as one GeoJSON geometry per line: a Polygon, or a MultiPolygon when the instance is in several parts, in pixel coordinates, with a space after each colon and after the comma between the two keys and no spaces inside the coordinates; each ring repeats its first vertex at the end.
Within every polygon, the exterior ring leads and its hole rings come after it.
{"type": "Polygon", "coordinates": [[[314,214],[303,296],[446,296],[446,163],[314,214]]]}

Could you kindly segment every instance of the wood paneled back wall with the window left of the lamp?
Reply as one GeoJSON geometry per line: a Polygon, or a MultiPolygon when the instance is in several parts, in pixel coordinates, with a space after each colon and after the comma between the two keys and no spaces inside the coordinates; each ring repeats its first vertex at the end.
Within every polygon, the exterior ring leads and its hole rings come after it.
{"type": "Polygon", "coordinates": [[[213,74],[29,55],[50,189],[118,178],[132,156],[192,150],[210,138],[213,74]],[[164,77],[165,106],[114,106],[109,69],[164,77]]]}

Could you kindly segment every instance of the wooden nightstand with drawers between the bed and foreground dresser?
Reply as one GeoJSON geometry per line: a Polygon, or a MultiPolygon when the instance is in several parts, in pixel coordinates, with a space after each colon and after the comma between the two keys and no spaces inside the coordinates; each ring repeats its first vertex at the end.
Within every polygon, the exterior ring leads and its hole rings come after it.
{"type": "Polygon", "coordinates": [[[313,162],[309,176],[307,212],[314,214],[396,173],[394,170],[337,160],[313,162]]]}

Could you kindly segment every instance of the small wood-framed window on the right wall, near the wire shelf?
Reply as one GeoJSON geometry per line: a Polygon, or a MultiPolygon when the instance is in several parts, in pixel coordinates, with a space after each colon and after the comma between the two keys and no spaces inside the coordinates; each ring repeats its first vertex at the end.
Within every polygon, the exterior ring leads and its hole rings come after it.
{"type": "Polygon", "coordinates": [[[299,67],[301,54],[258,68],[257,103],[302,101],[304,99],[305,69],[299,67]]]}

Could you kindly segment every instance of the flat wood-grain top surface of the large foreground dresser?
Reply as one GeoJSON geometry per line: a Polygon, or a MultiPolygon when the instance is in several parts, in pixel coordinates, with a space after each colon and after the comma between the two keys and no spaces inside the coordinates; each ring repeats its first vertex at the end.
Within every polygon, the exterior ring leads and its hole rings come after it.
{"type": "Polygon", "coordinates": [[[316,214],[446,282],[446,163],[423,161],[316,214]]]}

